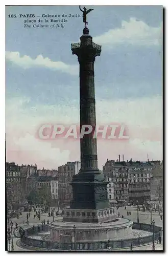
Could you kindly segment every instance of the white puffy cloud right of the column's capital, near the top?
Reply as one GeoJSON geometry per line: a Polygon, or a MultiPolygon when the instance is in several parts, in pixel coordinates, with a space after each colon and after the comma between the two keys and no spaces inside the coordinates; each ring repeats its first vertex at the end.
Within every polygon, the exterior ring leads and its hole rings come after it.
{"type": "Polygon", "coordinates": [[[110,29],[103,35],[94,37],[93,40],[108,47],[118,44],[158,46],[162,44],[162,24],[159,27],[150,27],[141,20],[130,18],[129,22],[122,21],[121,28],[110,29]]]}

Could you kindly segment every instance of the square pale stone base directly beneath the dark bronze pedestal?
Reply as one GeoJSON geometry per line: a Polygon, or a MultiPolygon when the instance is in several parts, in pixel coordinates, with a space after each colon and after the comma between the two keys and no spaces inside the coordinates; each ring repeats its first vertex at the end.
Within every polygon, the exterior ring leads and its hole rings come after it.
{"type": "Polygon", "coordinates": [[[67,207],[64,211],[64,222],[99,223],[115,220],[117,218],[116,207],[106,209],[71,209],[67,207]]]}

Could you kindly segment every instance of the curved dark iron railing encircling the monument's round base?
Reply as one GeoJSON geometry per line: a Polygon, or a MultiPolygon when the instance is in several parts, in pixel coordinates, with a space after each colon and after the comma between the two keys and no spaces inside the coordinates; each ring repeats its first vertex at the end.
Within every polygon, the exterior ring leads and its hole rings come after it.
{"type": "MultiPolygon", "coordinates": [[[[134,223],[132,226],[133,229],[141,229],[152,232],[153,225],[145,224],[145,223],[134,223]]],[[[161,236],[161,227],[155,226],[155,237],[154,240],[157,241],[159,236],[161,236]]],[[[131,239],[123,239],[123,240],[115,240],[115,241],[102,241],[102,242],[76,242],[76,243],[61,243],[61,242],[53,242],[46,240],[38,240],[33,238],[28,238],[31,234],[35,234],[38,232],[46,232],[50,231],[49,225],[41,225],[33,228],[29,228],[24,230],[21,233],[20,241],[22,244],[27,246],[32,246],[36,248],[41,248],[45,250],[106,250],[109,247],[111,249],[120,249],[127,248],[132,246],[139,246],[148,243],[152,243],[153,234],[146,237],[139,238],[131,238],[131,239]]]]}

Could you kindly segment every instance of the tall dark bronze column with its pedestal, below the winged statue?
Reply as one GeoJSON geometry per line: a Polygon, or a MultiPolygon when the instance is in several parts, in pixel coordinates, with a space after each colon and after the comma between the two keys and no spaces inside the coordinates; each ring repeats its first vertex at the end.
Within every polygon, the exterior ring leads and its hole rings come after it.
{"type": "Polygon", "coordinates": [[[95,121],[94,61],[101,54],[101,46],[92,42],[88,28],[83,29],[81,42],[71,45],[80,65],[80,129],[92,132],[81,137],[81,169],[73,177],[71,209],[104,209],[109,207],[107,181],[98,169],[97,139],[93,138],[95,121]],[[86,126],[84,126],[86,125],[86,126]]]}

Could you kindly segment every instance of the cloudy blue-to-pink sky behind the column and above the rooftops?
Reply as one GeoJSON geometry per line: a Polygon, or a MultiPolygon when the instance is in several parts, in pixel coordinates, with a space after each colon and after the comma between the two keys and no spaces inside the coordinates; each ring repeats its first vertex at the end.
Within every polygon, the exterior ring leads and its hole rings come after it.
{"type": "MultiPolygon", "coordinates": [[[[102,46],[94,65],[97,124],[125,124],[129,133],[127,140],[98,139],[99,168],[118,154],[161,160],[162,7],[89,8],[90,35],[102,46]]],[[[57,168],[80,160],[80,141],[41,140],[37,131],[46,123],[79,124],[79,64],[70,44],[84,24],[68,17],[64,28],[24,28],[19,14],[81,13],[78,6],[6,7],[7,161],[57,168]]]]}

